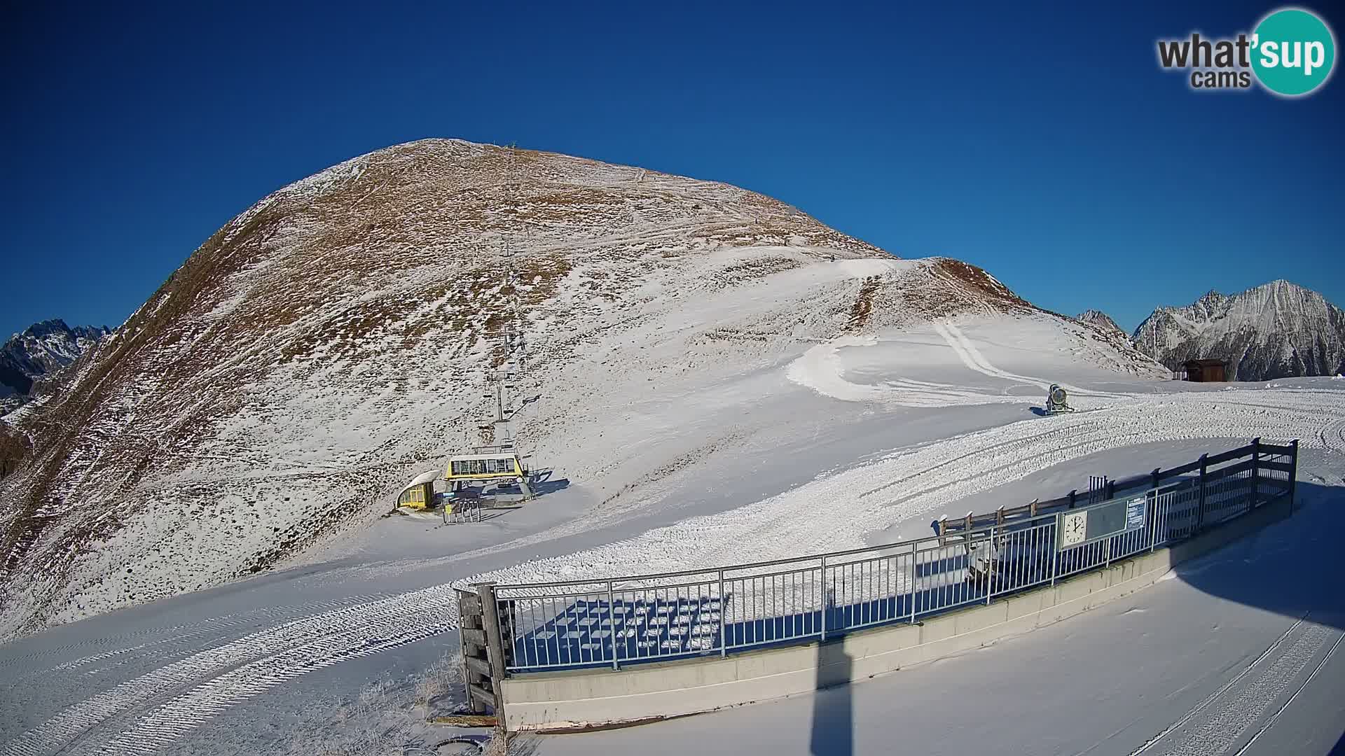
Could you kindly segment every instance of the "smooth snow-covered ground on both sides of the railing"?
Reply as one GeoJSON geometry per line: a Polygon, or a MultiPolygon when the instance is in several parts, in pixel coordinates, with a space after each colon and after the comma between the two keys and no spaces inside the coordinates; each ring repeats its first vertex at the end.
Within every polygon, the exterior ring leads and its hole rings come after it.
{"type": "MultiPolygon", "coordinates": [[[[924,534],[946,511],[1056,495],[1089,474],[1178,464],[1254,436],[1302,439],[1301,479],[1313,500],[1264,538],[1216,556],[1225,566],[1184,568],[1126,605],[845,691],[537,745],[868,753],[912,739],[946,753],[1076,753],[1095,744],[1096,753],[1130,753],[1194,710],[1150,752],[1206,753],[1215,741],[1176,739],[1201,728],[1223,737],[1217,722],[1229,717],[1268,721],[1325,656],[1340,604],[1305,593],[1318,581],[1303,576],[1336,572],[1322,546],[1334,538],[1329,507],[1345,491],[1345,381],[1143,379],[1099,362],[1104,350],[1084,354],[1091,347],[1046,316],[962,316],[872,334],[737,374],[710,371],[690,395],[668,379],[623,405],[620,426],[578,428],[581,449],[675,469],[635,494],[577,482],[480,525],[389,518],[304,566],[0,646],[0,753],[321,752],[370,726],[377,706],[359,720],[351,705],[371,685],[414,697],[425,670],[457,646],[451,585],[473,576],[643,573],[890,541],[908,529],[924,534]],[[1053,382],[1072,389],[1077,413],[1033,412],[1053,382]],[[725,441],[706,448],[705,437],[725,441]],[[1290,630],[1301,596],[1322,611],[1290,630]],[[1241,669],[1251,671],[1197,706],[1241,669]],[[1266,675],[1272,682],[1259,682],[1266,675]],[[815,721],[822,745],[812,747],[815,721]]],[[[1325,665],[1278,722],[1313,712],[1301,706],[1318,700],[1313,685],[1338,685],[1340,670],[1325,665]]],[[[389,747],[428,737],[379,726],[389,747]]],[[[1275,737],[1279,724],[1258,743],[1275,737]]]]}

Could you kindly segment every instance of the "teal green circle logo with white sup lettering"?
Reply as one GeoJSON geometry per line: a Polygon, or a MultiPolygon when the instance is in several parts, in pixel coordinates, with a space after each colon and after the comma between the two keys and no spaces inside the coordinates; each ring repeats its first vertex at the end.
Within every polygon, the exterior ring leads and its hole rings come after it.
{"type": "Polygon", "coordinates": [[[1326,82],[1334,66],[1336,36],[1310,11],[1275,11],[1252,34],[1252,71],[1275,94],[1307,94],[1326,82]]]}

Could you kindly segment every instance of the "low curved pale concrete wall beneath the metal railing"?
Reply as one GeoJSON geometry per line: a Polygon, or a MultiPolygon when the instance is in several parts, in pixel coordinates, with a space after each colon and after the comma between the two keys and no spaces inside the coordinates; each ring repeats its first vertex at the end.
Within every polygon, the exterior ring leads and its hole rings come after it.
{"type": "Polygon", "coordinates": [[[1052,624],[1153,585],[1185,560],[1289,517],[1289,496],[1171,549],[1158,549],[989,605],[806,643],[621,670],[503,681],[510,730],[572,730],[713,712],[865,679],[1052,624]]]}

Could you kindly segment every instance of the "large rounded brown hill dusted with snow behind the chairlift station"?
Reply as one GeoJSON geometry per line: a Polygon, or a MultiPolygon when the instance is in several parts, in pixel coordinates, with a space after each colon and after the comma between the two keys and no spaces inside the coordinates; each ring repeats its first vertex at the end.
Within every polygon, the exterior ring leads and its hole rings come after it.
{"type": "Polygon", "coordinates": [[[752,443],[773,422],[753,391],[812,346],[966,312],[1040,320],[1108,373],[1153,366],[979,268],[900,261],[737,187],[457,140],[348,160],[230,221],[16,413],[0,635],[377,518],[479,443],[511,319],[518,444],[601,506],[752,443]],[[682,397],[685,426],[647,426],[651,395],[682,397]]]}

